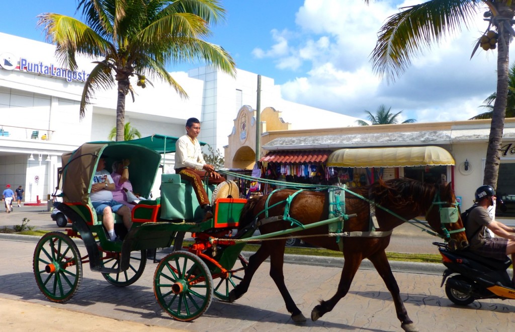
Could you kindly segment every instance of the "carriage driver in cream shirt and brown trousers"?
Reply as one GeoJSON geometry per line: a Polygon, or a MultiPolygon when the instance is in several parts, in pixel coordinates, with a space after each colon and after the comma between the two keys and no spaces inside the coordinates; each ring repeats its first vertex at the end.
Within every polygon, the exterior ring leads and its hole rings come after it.
{"type": "Polygon", "coordinates": [[[175,143],[175,172],[180,174],[181,179],[192,184],[198,203],[204,209],[202,221],[206,221],[213,218],[213,208],[202,185],[202,178],[209,173],[209,184],[220,184],[226,180],[215,172],[213,165],[205,163],[197,139],[199,133],[200,121],[194,117],[187,119],[186,135],[181,136],[175,143]]]}

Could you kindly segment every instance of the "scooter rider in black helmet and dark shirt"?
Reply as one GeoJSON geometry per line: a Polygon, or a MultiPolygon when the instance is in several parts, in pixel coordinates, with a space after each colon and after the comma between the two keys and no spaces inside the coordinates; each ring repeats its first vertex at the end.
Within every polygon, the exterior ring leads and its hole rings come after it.
{"type": "Polygon", "coordinates": [[[495,190],[492,186],[483,185],[476,189],[475,201],[478,207],[470,211],[465,230],[470,250],[478,255],[496,259],[505,259],[506,255],[511,255],[511,260],[515,261],[515,234],[512,234],[515,233],[515,229],[492,220],[487,211],[495,200],[495,190]],[[491,237],[487,229],[499,237],[491,237]]]}

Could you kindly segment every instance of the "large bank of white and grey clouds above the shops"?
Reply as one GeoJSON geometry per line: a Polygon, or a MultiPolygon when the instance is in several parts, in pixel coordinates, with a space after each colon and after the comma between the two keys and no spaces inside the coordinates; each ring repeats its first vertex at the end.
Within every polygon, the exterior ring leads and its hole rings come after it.
{"type": "MultiPolygon", "coordinates": [[[[417,121],[468,119],[483,109],[483,100],[495,91],[496,52],[478,49],[469,60],[474,43],[487,23],[481,12],[469,30],[457,32],[423,55],[414,57],[396,82],[386,85],[372,71],[369,60],[377,31],[405,1],[305,0],[296,14],[293,31],[272,30],[274,45],[254,50],[269,57],[280,70],[297,77],[281,85],[283,98],[310,106],[363,117],[380,104],[417,121]],[[302,74],[304,73],[304,74],[302,74]]],[[[278,29],[282,28],[279,26],[278,29]]]]}

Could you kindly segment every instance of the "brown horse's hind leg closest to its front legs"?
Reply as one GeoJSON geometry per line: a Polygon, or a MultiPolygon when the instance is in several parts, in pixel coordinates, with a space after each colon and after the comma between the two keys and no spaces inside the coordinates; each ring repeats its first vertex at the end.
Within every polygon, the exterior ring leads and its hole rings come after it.
{"type": "Polygon", "coordinates": [[[306,322],[306,318],[302,314],[302,311],[297,307],[295,301],[291,298],[286,284],[284,283],[284,249],[285,240],[270,241],[267,243],[270,246],[270,277],[272,277],[274,283],[276,283],[281,296],[283,296],[286,310],[291,313],[291,319],[297,323],[302,324],[306,322]]]}

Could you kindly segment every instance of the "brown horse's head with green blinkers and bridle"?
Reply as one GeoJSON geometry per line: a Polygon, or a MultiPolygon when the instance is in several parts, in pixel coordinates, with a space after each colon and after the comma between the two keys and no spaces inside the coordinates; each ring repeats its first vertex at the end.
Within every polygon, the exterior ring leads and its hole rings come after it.
{"type": "Polygon", "coordinates": [[[430,226],[449,242],[452,250],[465,249],[469,243],[459,213],[451,184],[439,186],[430,208],[426,212],[426,220],[430,226]]]}

